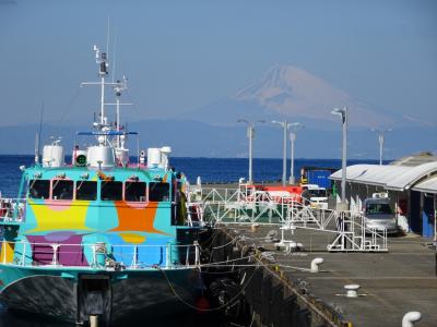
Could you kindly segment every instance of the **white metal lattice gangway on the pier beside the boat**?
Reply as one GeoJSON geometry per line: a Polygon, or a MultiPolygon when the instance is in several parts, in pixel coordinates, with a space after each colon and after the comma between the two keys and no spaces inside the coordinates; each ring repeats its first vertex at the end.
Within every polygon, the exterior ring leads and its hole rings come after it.
{"type": "Polygon", "coordinates": [[[256,189],[205,189],[188,192],[189,225],[273,225],[282,231],[310,229],[334,235],[330,252],[387,252],[387,231],[366,228],[366,218],[353,211],[321,209],[290,196],[256,189]]]}

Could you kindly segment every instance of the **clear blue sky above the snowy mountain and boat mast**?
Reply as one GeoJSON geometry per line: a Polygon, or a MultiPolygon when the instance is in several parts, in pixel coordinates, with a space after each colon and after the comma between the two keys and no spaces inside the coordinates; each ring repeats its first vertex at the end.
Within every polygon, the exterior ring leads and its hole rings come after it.
{"type": "Polygon", "coordinates": [[[117,35],[130,120],[191,111],[293,64],[351,96],[436,119],[437,1],[0,0],[0,125],[87,122],[92,46],[117,35]]]}

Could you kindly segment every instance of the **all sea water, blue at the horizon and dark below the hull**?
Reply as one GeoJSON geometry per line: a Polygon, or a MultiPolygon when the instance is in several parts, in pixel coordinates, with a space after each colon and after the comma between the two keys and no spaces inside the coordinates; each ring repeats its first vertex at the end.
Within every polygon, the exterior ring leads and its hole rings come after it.
{"type": "MultiPolygon", "coordinates": [[[[7,156],[0,155],[0,191],[4,197],[16,197],[22,171],[20,166],[32,166],[33,156],[7,156]]],[[[377,164],[376,160],[349,160],[353,164],[377,164]]],[[[287,162],[290,165],[290,162],[287,162]]],[[[240,158],[170,158],[170,166],[182,171],[191,183],[196,183],[200,177],[202,183],[236,182],[239,178],[247,178],[248,160],[240,158]]],[[[340,168],[341,160],[336,159],[296,159],[295,177],[298,178],[300,168],[315,166],[324,168],[340,168]]],[[[287,174],[290,174],[290,166],[287,174]]],[[[255,181],[279,181],[282,178],[282,159],[253,159],[255,181]]],[[[0,327],[66,327],[72,324],[55,322],[28,314],[10,313],[0,304],[0,327]]],[[[130,326],[144,326],[143,320],[130,326]]],[[[151,326],[233,326],[214,316],[202,316],[190,313],[178,317],[166,317],[165,320],[156,320],[151,326]]],[[[235,326],[235,325],[234,325],[235,326]]]]}

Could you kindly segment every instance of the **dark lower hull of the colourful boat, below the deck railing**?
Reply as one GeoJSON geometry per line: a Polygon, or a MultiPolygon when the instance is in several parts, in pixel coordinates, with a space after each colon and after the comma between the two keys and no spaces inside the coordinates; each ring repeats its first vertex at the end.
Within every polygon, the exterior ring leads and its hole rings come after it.
{"type": "Polygon", "coordinates": [[[192,268],[74,271],[0,267],[3,275],[16,276],[0,293],[9,308],[76,323],[87,322],[90,315],[111,325],[133,315],[176,314],[189,310],[187,303],[194,304],[202,287],[200,272],[192,268]]]}

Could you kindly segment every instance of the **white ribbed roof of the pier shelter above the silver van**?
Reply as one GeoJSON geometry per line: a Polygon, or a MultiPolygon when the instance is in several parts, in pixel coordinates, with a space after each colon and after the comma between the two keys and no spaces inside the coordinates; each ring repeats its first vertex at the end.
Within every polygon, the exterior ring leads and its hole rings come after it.
{"type": "MultiPolygon", "coordinates": [[[[388,190],[410,189],[423,178],[437,173],[437,161],[416,167],[354,165],[346,168],[346,181],[367,185],[382,186],[388,190]]],[[[330,179],[340,181],[342,171],[338,170],[330,179]]]]}

